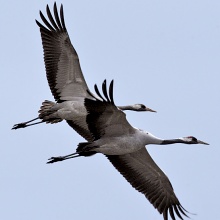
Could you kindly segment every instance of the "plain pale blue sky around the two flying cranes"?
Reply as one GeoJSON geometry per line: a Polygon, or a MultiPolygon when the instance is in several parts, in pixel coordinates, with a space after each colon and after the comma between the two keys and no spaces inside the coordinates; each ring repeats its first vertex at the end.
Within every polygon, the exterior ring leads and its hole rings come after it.
{"type": "MultiPolygon", "coordinates": [[[[103,155],[52,165],[84,139],[65,122],[11,130],[54,100],[46,80],[39,10],[54,1],[2,1],[1,219],[161,220],[103,155]]],[[[160,138],[193,135],[210,145],[147,146],[195,220],[217,220],[220,196],[220,1],[57,1],[92,90],[115,81],[115,103],[160,138]]]]}

